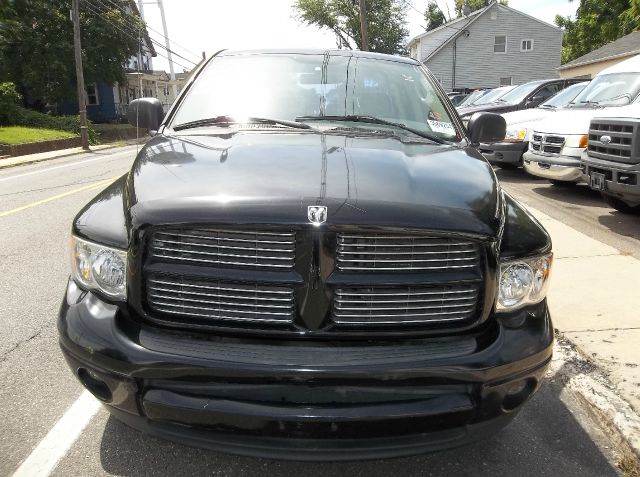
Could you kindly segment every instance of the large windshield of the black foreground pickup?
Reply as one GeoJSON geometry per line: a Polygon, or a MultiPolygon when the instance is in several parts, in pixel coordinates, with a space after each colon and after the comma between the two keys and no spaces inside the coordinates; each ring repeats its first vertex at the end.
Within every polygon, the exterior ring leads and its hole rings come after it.
{"type": "Polygon", "coordinates": [[[324,130],[411,134],[407,129],[412,129],[440,139],[459,139],[443,99],[419,66],[346,54],[214,58],[178,107],[172,127],[217,123],[228,127],[256,118],[300,121],[324,130]]]}

